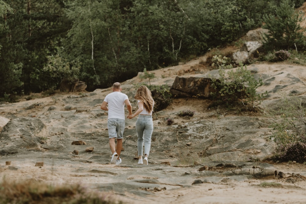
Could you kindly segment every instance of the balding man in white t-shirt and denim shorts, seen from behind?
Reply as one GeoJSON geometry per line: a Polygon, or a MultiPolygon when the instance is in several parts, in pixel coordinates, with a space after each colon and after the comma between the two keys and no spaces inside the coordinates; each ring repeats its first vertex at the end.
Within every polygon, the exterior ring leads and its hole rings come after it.
{"type": "Polygon", "coordinates": [[[124,105],[126,105],[129,111],[128,116],[132,115],[132,105],[129,98],[127,95],[121,93],[121,90],[121,84],[119,82],[115,82],[113,84],[113,92],[105,97],[101,105],[102,110],[108,111],[107,128],[110,139],[110,150],[112,151],[112,159],[110,160],[111,164],[121,163],[120,153],[125,128],[124,105]],[[117,146],[115,143],[115,138],[117,138],[117,146]]]}

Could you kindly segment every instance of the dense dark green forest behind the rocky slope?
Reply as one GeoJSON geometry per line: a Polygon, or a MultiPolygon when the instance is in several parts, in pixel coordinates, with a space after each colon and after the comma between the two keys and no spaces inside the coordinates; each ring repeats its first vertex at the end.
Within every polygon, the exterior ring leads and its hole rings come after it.
{"type": "MultiPolygon", "coordinates": [[[[0,101],[56,90],[65,79],[84,81],[87,91],[110,87],[232,43],[273,16],[281,18],[282,4],[294,9],[304,2],[0,0],[0,101]]],[[[266,51],[298,46],[304,52],[304,39],[297,39],[274,40],[266,51]]]]}

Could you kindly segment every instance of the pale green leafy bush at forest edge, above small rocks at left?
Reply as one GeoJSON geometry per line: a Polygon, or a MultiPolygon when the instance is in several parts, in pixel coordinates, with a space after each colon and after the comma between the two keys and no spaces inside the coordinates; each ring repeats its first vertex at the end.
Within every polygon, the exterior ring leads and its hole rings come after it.
{"type": "Polygon", "coordinates": [[[44,66],[43,71],[47,72],[52,78],[57,79],[59,83],[63,80],[73,82],[75,79],[78,79],[81,67],[79,61],[67,62],[59,55],[52,55],[47,58],[48,62],[44,66]]]}

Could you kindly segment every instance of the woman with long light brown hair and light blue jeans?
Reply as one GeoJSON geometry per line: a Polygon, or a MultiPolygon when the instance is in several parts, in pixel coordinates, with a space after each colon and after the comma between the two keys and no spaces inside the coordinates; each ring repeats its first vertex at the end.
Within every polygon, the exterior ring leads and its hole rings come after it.
{"type": "Polygon", "coordinates": [[[154,100],[151,91],[146,86],[140,86],[135,94],[135,99],[138,102],[138,110],[133,114],[127,116],[132,119],[138,115],[136,121],[136,132],[138,136],[137,150],[138,150],[138,164],[148,164],[148,157],[151,148],[151,137],[153,133],[152,112],[154,100]],[[144,159],[143,157],[144,150],[144,159]]]}

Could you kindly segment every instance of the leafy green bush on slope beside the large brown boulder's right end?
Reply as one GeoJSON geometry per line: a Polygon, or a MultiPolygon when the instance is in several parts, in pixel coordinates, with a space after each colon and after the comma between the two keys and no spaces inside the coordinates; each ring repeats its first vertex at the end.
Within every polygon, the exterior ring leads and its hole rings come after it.
{"type": "Polygon", "coordinates": [[[262,79],[256,80],[246,66],[233,71],[232,65],[225,65],[227,57],[214,56],[212,66],[217,66],[219,79],[212,79],[211,86],[216,90],[211,96],[220,104],[235,106],[241,103],[244,106],[254,107],[256,103],[267,95],[267,92],[259,94],[256,89],[263,85],[262,79]],[[230,69],[226,72],[225,69],[230,69]]]}

